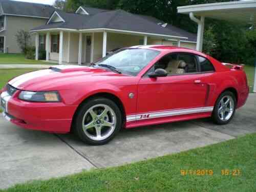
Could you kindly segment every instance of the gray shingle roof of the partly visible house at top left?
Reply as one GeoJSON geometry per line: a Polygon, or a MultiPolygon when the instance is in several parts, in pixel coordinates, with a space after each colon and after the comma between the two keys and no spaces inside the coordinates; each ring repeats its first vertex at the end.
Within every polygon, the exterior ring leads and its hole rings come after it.
{"type": "Polygon", "coordinates": [[[56,10],[50,5],[0,0],[4,14],[26,15],[49,18],[56,10]]]}

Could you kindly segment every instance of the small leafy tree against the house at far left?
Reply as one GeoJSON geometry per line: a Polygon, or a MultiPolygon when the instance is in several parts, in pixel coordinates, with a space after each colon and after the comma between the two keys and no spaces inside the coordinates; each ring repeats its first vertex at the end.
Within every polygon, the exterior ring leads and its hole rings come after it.
{"type": "Polygon", "coordinates": [[[22,29],[17,31],[15,36],[16,36],[16,40],[19,48],[22,50],[24,54],[26,54],[27,49],[29,48],[31,43],[30,33],[22,29]]]}

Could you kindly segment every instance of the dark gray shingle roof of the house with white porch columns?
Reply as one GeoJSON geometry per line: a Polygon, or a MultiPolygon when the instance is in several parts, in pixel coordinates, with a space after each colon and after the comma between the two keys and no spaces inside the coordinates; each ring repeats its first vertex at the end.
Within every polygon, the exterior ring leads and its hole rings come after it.
{"type": "MultiPolygon", "coordinates": [[[[160,20],[144,15],[132,14],[123,10],[104,11],[93,15],[80,15],[57,11],[65,22],[50,23],[39,26],[33,30],[67,28],[67,29],[116,29],[125,31],[136,31],[142,33],[155,33],[169,36],[188,37],[189,41],[196,41],[196,35],[182,29],[167,25],[158,25],[160,20]]],[[[163,23],[163,22],[162,22],[163,23]]]]}

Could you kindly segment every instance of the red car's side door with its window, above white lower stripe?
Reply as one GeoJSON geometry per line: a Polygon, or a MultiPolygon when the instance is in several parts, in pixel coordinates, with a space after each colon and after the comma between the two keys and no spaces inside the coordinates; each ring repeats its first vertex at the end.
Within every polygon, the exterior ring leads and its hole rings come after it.
{"type": "Polygon", "coordinates": [[[138,116],[137,119],[190,114],[204,107],[207,86],[202,81],[205,74],[200,73],[199,70],[196,55],[172,53],[163,56],[138,84],[137,114],[143,115],[138,116]],[[182,68],[178,66],[176,70],[175,67],[170,66],[176,63],[176,60],[184,61],[186,65],[182,68]],[[157,68],[168,70],[168,76],[148,77],[147,74],[157,68]],[[175,70],[182,73],[176,73],[175,70]]]}

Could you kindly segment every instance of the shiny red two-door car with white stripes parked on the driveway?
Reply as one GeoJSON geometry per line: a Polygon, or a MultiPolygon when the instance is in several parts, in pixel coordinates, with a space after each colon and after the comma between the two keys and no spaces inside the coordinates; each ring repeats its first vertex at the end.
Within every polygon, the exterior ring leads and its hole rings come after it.
{"type": "Polygon", "coordinates": [[[227,67],[189,49],[136,46],[92,67],[58,66],[18,76],[2,90],[1,105],[4,116],[25,129],[73,130],[99,145],[122,127],[205,117],[228,123],[248,92],[242,66],[227,67]]]}

